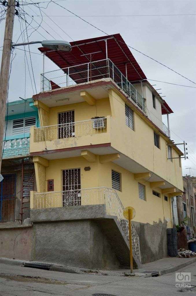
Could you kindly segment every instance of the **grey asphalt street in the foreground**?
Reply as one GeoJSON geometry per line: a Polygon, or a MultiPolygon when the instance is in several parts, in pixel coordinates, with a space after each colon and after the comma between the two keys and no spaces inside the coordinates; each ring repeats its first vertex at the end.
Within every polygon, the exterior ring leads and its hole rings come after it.
{"type": "Polygon", "coordinates": [[[0,296],[196,295],[196,263],[177,272],[191,273],[191,281],[184,282],[184,287],[179,286],[182,282],[176,283],[175,272],[144,278],[70,274],[0,264],[0,296]]]}

